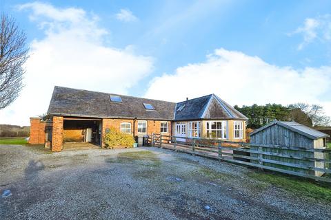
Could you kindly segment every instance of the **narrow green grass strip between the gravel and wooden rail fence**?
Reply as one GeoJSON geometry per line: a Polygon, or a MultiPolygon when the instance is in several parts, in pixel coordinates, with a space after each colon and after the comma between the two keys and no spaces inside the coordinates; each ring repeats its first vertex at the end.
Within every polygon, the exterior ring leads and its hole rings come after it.
{"type": "Polygon", "coordinates": [[[319,185],[307,179],[274,173],[252,172],[248,176],[259,179],[266,184],[272,184],[273,186],[293,192],[294,195],[305,195],[315,199],[331,201],[331,186],[328,184],[319,185]]]}

